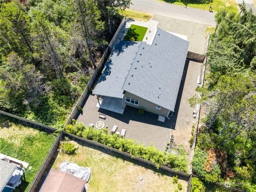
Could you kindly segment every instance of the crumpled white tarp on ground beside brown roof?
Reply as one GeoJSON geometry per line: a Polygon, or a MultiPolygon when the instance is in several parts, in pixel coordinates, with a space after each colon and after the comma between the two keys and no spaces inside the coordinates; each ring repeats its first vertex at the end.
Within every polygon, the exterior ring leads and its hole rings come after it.
{"type": "Polygon", "coordinates": [[[65,173],[74,175],[75,177],[81,178],[85,180],[86,183],[89,181],[91,176],[91,169],[89,167],[78,166],[77,164],[70,163],[70,162],[62,162],[60,164],[60,171],[63,171],[65,173]]]}

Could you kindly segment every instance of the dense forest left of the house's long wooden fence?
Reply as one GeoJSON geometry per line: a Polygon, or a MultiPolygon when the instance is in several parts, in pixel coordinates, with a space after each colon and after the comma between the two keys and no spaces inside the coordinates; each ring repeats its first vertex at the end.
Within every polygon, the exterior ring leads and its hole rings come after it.
{"type": "Polygon", "coordinates": [[[0,109],[63,127],[130,1],[0,1],[0,109]]]}

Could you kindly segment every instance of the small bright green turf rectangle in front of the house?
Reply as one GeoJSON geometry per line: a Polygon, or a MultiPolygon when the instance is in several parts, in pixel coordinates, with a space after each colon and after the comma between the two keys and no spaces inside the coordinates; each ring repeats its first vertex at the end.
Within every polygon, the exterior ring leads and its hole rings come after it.
{"type": "Polygon", "coordinates": [[[148,28],[137,25],[131,25],[124,37],[124,41],[142,41],[148,28]]]}

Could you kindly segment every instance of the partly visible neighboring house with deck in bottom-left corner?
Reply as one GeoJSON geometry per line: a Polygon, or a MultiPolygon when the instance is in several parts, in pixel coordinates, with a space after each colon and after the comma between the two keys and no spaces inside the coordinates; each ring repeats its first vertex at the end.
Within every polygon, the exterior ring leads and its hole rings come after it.
{"type": "Polygon", "coordinates": [[[10,192],[21,183],[28,163],[0,154],[0,191],[10,192]]]}

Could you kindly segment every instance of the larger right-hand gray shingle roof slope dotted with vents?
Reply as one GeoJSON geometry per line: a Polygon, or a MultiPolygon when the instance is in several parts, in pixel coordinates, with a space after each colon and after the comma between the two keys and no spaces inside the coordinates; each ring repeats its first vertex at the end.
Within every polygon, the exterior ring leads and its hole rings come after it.
{"type": "Polygon", "coordinates": [[[174,111],[188,46],[158,28],[152,45],[141,43],[123,90],[174,111]]]}

